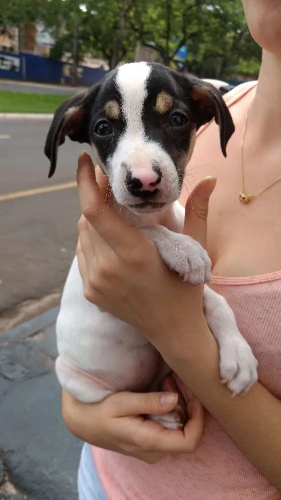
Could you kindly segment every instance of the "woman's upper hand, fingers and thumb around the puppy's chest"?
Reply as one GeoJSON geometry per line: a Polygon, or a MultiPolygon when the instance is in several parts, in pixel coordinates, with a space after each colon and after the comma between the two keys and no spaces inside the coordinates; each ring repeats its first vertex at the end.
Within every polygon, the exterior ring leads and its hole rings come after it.
{"type": "MultiPolygon", "coordinates": [[[[184,232],[203,244],[215,182],[214,178],[200,182],[186,205],[184,232]]],[[[77,184],[83,212],[78,222],[77,257],[85,297],[141,329],[160,351],[165,341],[171,347],[170,332],[175,331],[176,322],[185,323],[187,316],[193,331],[200,331],[203,322],[205,326],[202,287],[191,286],[171,272],[154,244],[105,203],[86,152],[78,160],[77,184]]],[[[175,342],[180,348],[178,337],[175,342]]]]}

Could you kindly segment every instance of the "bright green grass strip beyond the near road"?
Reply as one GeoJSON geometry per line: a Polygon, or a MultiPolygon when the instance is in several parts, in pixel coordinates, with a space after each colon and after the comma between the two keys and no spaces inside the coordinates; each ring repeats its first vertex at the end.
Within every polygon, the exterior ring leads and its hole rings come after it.
{"type": "Polygon", "coordinates": [[[0,113],[53,113],[69,95],[0,90],[0,113]]]}

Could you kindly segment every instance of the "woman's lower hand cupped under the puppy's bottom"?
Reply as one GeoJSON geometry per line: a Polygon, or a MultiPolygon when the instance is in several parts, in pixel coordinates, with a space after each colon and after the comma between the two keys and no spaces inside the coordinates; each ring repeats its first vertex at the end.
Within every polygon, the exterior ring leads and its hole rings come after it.
{"type": "Polygon", "coordinates": [[[168,454],[192,453],[204,430],[203,406],[187,387],[178,389],[171,377],[164,387],[173,392],[119,392],[99,403],[81,403],[62,389],[62,416],[79,439],[148,463],[168,454]],[[166,429],[140,416],[173,410],[179,394],[189,414],[183,430],[166,429]]]}

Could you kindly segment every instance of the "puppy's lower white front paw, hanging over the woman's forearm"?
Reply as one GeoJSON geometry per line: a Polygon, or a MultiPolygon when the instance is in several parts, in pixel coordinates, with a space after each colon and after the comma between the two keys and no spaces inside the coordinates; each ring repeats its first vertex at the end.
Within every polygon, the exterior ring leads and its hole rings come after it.
{"type": "Polygon", "coordinates": [[[250,345],[240,335],[229,335],[228,341],[220,346],[220,371],[222,382],[235,396],[248,392],[258,380],[258,361],[250,345]]]}

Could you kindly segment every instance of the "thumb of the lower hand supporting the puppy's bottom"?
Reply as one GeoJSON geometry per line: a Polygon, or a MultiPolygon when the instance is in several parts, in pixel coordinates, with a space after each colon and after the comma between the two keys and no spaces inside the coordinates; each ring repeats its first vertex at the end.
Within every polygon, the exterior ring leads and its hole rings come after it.
{"type": "Polygon", "coordinates": [[[162,415],[172,411],[178,401],[176,392],[119,392],[108,398],[115,417],[162,415]],[[113,398],[115,400],[113,401],[113,398]]]}

